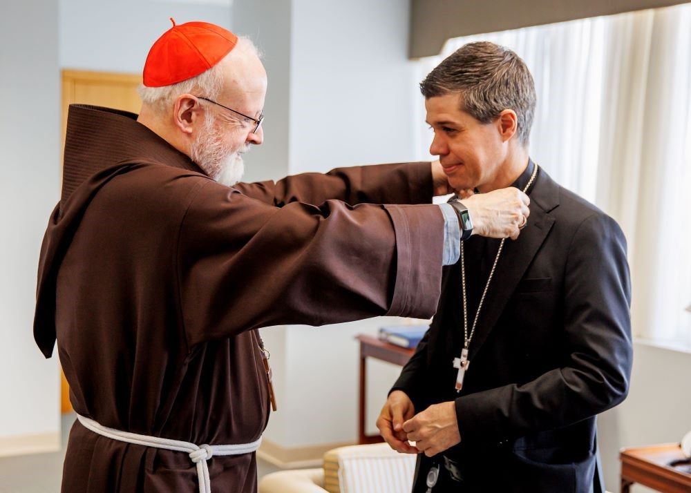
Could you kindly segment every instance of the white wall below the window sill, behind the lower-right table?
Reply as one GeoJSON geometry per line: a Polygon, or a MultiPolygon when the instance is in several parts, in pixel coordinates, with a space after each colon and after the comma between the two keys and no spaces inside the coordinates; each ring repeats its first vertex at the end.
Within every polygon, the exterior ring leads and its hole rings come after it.
{"type": "MultiPolygon", "coordinates": [[[[605,484],[618,491],[619,450],[656,443],[679,443],[691,431],[691,354],[634,344],[630,392],[618,407],[598,417],[605,484]]],[[[650,491],[640,485],[632,492],[650,491]]]]}

